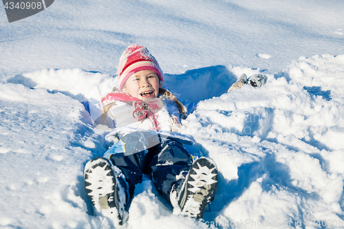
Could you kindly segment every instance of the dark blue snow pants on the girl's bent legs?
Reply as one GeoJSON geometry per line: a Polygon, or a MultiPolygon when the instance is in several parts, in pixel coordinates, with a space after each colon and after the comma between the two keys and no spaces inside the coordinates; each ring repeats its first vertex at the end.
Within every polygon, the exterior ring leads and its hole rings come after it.
{"type": "Polygon", "coordinates": [[[177,181],[176,176],[185,176],[193,164],[193,157],[182,144],[166,138],[162,138],[160,144],[149,148],[148,152],[140,151],[131,155],[116,153],[111,155],[110,160],[125,175],[130,199],[133,197],[135,185],[142,181],[143,175],[148,175],[169,204],[169,193],[177,181]]]}

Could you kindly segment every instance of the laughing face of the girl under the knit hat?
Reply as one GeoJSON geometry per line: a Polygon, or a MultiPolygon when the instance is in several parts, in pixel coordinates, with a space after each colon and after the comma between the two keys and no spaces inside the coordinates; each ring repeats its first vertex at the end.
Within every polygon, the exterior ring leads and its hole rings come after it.
{"type": "Polygon", "coordinates": [[[132,74],[122,91],[143,101],[149,101],[158,98],[159,94],[159,78],[158,75],[151,70],[142,70],[132,74]]]}

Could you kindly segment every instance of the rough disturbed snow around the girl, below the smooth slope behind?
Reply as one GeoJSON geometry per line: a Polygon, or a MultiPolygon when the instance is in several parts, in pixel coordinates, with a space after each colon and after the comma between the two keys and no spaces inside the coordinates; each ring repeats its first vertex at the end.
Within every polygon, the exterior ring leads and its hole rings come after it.
{"type": "MultiPolygon", "coordinates": [[[[217,163],[219,188],[197,221],[172,215],[144,180],[126,228],[343,227],[344,55],[301,57],[268,74],[264,87],[226,93],[240,74],[258,72],[218,65],[165,74],[183,102],[198,102],[180,132],[217,163]]],[[[83,186],[85,163],[106,151],[107,131],[91,126],[80,102],[114,86],[114,76],[81,69],[0,84],[1,227],[109,228],[83,186]]]]}

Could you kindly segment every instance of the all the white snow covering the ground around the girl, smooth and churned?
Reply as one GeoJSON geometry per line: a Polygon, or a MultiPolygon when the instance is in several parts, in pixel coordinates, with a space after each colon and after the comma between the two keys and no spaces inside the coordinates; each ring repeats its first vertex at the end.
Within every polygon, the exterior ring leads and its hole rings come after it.
{"type": "Polygon", "coordinates": [[[0,228],[110,228],[93,216],[83,170],[111,130],[94,129],[80,102],[117,86],[131,43],[197,103],[180,133],[220,178],[200,221],[173,215],[144,180],[125,228],[343,228],[343,10],[340,0],[60,0],[14,23],[0,10],[0,228]],[[227,93],[242,73],[266,85],[227,93]]]}

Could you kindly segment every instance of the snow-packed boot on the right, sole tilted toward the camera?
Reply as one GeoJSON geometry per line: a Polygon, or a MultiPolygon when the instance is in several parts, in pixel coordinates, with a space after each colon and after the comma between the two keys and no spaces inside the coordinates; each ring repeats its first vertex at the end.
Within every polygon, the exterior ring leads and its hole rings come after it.
{"type": "Polygon", "coordinates": [[[202,219],[204,210],[217,189],[217,179],[215,163],[206,157],[197,159],[185,181],[176,182],[171,190],[173,213],[202,219]]]}

